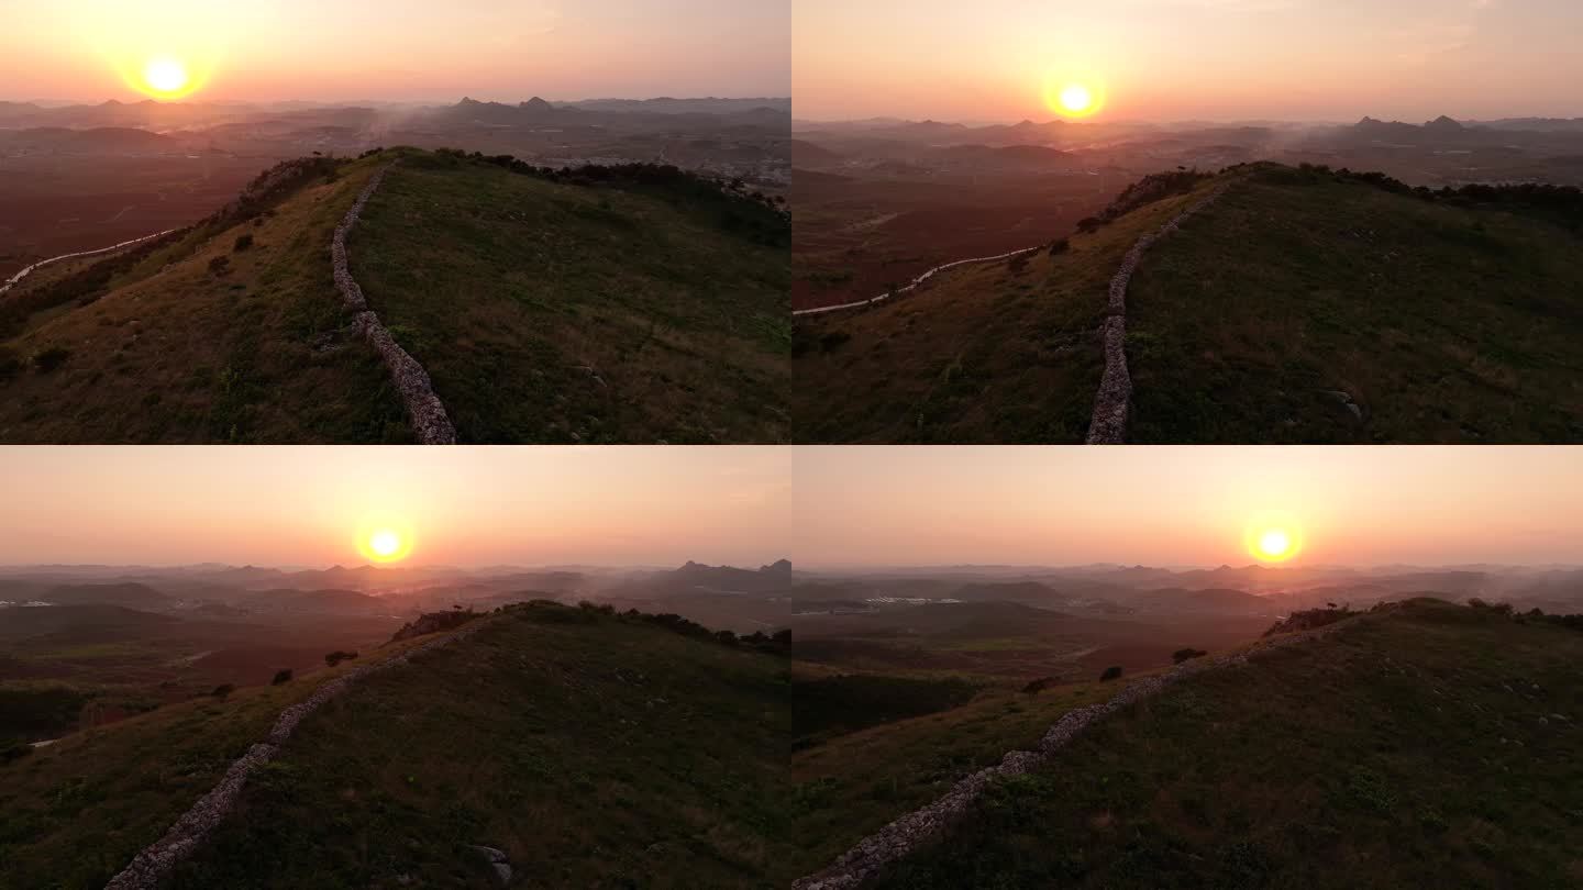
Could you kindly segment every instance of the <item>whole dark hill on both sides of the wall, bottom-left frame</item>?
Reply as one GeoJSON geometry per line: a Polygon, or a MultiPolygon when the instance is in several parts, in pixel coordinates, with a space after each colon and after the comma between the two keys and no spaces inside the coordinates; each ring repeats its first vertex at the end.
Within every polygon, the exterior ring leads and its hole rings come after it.
{"type": "Polygon", "coordinates": [[[784,645],[545,602],[450,624],[467,638],[389,643],[0,765],[0,887],[103,885],[283,708],[382,662],[277,743],[176,885],[491,885],[473,846],[535,887],[792,877],[784,645]]]}

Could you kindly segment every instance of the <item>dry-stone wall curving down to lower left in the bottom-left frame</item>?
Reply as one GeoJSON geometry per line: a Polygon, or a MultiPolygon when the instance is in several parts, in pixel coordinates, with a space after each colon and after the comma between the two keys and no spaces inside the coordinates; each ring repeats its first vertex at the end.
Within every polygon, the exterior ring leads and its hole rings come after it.
{"type": "Polygon", "coordinates": [[[160,882],[169,877],[171,871],[182,860],[193,855],[198,846],[207,839],[215,827],[220,825],[220,822],[225,820],[233,809],[236,809],[236,801],[241,798],[242,787],[247,784],[249,776],[280,754],[280,747],[291,740],[291,733],[296,732],[304,717],[321,708],[331,698],[347,692],[359,679],[372,673],[389,670],[396,665],[404,665],[419,652],[427,652],[440,646],[450,646],[457,640],[472,637],[478,630],[483,630],[486,624],[489,622],[475,621],[450,637],[442,637],[421,646],[413,646],[412,649],[385,659],[383,662],[353,668],[336,679],[320,684],[312,695],[296,705],[291,705],[285,711],[280,711],[280,716],[275,719],[274,727],[269,728],[266,740],[249,747],[247,754],[231,763],[231,768],[225,771],[225,776],[220,778],[218,784],[215,784],[209,793],[198,798],[198,803],[184,812],[163,838],[133,857],[131,863],[128,863],[127,868],[123,868],[116,877],[111,879],[109,884],[104,885],[104,890],[155,890],[160,882]]]}

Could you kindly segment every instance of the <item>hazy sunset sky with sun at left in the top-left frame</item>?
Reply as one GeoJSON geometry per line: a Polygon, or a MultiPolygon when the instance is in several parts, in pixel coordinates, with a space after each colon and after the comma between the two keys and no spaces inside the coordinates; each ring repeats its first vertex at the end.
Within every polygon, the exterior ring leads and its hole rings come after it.
{"type": "Polygon", "coordinates": [[[522,101],[785,97],[788,0],[0,0],[0,98],[142,98],[174,55],[195,98],[522,101]]]}

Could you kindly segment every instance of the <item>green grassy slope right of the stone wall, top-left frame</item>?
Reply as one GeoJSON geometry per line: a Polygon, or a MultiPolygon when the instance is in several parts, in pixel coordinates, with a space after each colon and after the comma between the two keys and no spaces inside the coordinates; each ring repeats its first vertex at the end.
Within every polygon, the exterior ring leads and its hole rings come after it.
{"type": "Polygon", "coordinates": [[[785,247],[693,198],[445,160],[396,168],[350,250],[462,440],[788,439],[785,247]]]}

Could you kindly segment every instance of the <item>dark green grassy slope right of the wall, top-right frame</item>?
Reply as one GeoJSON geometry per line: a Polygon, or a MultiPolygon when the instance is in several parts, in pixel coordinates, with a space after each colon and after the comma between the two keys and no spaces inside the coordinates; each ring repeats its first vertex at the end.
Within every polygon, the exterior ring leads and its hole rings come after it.
{"type": "Polygon", "coordinates": [[[1583,440],[1575,233],[1273,165],[1232,176],[1132,280],[1132,442],[1583,440]]]}

